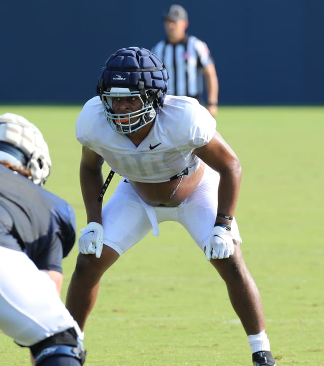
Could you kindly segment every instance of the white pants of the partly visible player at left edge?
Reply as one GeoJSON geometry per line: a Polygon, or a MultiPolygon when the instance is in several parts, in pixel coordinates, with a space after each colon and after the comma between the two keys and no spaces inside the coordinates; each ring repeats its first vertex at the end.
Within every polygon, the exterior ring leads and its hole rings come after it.
{"type": "Polygon", "coordinates": [[[31,346],[74,327],[54,281],[23,252],[0,246],[0,330],[31,346]]]}

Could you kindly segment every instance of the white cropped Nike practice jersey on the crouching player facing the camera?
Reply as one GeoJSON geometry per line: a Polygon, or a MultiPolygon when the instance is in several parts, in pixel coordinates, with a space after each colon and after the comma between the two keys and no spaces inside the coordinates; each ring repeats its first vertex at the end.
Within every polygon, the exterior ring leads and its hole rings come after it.
{"type": "Polygon", "coordinates": [[[195,148],[214,136],[216,121],[195,99],[167,95],[154,126],[136,147],[109,125],[99,97],[83,106],[76,124],[78,141],[102,156],[111,169],[136,182],[168,181],[187,167],[198,169],[195,148]]]}

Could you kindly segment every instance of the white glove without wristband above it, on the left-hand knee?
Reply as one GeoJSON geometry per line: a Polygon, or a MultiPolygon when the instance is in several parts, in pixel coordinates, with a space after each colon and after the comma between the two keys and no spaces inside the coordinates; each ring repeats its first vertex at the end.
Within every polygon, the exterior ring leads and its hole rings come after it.
{"type": "Polygon", "coordinates": [[[98,222],[89,222],[86,228],[81,229],[82,235],[78,240],[79,252],[95,254],[100,258],[103,250],[104,228],[98,222]]]}

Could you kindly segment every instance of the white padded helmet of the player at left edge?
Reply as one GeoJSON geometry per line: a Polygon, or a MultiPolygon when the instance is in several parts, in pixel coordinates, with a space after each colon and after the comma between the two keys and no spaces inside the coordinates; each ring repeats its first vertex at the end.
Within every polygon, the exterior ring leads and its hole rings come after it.
{"type": "MultiPolygon", "coordinates": [[[[41,131],[14,113],[0,115],[0,160],[20,162],[31,172],[30,179],[35,184],[44,184],[50,175],[51,157],[41,131]],[[10,159],[10,156],[13,157],[10,159]]],[[[15,164],[16,165],[16,164],[15,164]]]]}

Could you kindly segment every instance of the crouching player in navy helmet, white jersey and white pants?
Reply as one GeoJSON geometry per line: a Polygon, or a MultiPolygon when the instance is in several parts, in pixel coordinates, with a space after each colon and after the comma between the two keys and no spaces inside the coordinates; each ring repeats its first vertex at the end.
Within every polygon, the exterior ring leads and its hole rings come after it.
{"type": "Polygon", "coordinates": [[[225,281],[254,365],[273,366],[260,294],[243,261],[234,218],[239,159],[206,108],[166,95],[167,79],[152,52],[120,49],[101,71],[98,96],[81,110],[76,134],[88,225],[66,306],[83,330],[104,272],[151,229],[159,235],[160,222],[177,221],[225,281]],[[104,161],[123,178],[102,208],[104,161]]]}

